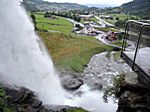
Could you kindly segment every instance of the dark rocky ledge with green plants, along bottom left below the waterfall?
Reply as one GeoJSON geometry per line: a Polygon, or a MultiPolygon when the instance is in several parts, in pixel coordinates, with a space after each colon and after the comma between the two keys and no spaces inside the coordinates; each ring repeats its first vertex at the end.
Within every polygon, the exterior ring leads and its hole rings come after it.
{"type": "Polygon", "coordinates": [[[43,105],[36,94],[26,88],[0,89],[0,112],[87,112],[63,105],[43,105]]]}

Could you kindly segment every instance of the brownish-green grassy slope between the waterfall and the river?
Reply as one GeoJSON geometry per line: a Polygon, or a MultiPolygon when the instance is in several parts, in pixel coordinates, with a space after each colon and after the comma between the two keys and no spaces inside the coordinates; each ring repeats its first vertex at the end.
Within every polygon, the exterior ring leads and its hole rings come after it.
{"type": "Polygon", "coordinates": [[[39,32],[57,67],[82,72],[90,58],[103,51],[112,50],[93,37],[39,32]]]}

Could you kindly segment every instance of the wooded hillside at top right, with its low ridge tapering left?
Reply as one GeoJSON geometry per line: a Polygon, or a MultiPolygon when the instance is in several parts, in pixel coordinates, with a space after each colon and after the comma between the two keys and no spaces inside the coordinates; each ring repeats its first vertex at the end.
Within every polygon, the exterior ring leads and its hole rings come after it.
{"type": "Polygon", "coordinates": [[[131,14],[141,16],[142,19],[150,19],[150,1],[149,0],[133,0],[125,3],[120,7],[105,8],[99,10],[105,14],[131,14]]]}

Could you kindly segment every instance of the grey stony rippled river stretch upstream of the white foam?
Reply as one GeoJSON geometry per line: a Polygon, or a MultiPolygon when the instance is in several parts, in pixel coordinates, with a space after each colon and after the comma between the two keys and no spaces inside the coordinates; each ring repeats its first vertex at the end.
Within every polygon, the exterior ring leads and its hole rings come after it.
{"type": "Polygon", "coordinates": [[[130,71],[127,64],[114,59],[114,53],[104,52],[94,55],[82,74],[84,83],[91,87],[95,86],[95,88],[101,84],[105,88],[112,84],[112,80],[117,74],[130,71]]]}

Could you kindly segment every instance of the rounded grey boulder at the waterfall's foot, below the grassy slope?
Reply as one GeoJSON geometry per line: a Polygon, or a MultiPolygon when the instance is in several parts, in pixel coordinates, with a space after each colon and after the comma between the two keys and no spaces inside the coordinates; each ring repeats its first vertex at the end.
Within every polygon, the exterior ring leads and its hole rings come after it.
{"type": "Polygon", "coordinates": [[[78,78],[65,78],[62,79],[62,85],[67,90],[77,90],[81,85],[83,85],[83,81],[78,78]]]}

